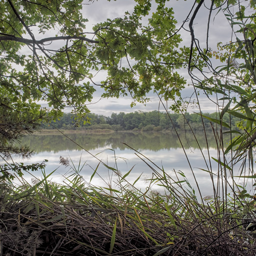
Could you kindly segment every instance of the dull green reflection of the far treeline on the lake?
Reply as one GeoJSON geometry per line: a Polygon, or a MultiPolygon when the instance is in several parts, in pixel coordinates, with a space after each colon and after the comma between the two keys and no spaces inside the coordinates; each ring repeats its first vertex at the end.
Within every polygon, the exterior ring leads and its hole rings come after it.
{"type": "MultiPolygon", "coordinates": [[[[200,147],[205,148],[206,142],[202,133],[195,134],[200,147]]],[[[124,150],[128,144],[136,150],[153,150],[180,148],[178,136],[171,132],[113,132],[104,134],[68,134],[68,137],[86,150],[97,148],[111,148],[124,150]]],[[[192,133],[179,135],[184,148],[198,148],[198,144],[192,133]]],[[[29,135],[22,139],[21,143],[28,145],[36,153],[42,151],[58,152],[60,150],[81,150],[81,147],[73,143],[62,134],[29,135]]],[[[207,134],[208,146],[216,148],[213,134],[207,134]]],[[[225,142],[228,143],[227,136],[225,142]]]]}

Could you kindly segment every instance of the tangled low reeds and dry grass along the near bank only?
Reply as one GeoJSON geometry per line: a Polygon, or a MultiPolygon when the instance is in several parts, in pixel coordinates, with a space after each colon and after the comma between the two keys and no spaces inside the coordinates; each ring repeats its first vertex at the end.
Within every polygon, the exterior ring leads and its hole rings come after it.
{"type": "Polygon", "coordinates": [[[63,184],[49,181],[52,173],[32,184],[2,182],[0,255],[255,255],[254,200],[245,190],[198,201],[182,172],[174,181],[144,161],[153,171],[146,191],[127,181],[130,171],[109,166],[115,178],[106,187],[73,166],[63,184]]]}

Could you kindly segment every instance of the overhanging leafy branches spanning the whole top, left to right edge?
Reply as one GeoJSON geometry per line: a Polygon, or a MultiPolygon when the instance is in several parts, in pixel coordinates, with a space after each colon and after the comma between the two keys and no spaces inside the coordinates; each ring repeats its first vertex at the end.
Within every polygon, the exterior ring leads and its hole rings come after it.
{"type": "MultiPolygon", "coordinates": [[[[93,0],[89,2],[93,4],[93,0]]],[[[37,103],[40,100],[51,107],[48,118],[57,118],[65,107],[70,107],[76,117],[86,120],[97,86],[104,88],[103,97],[130,94],[134,98],[131,105],[136,100],[146,102],[147,92],[153,90],[159,98],[174,100],[172,110],[182,110],[185,107],[180,90],[186,81],[177,70],[185,67],[195,90],[219,93],[223,95],[222,100],[228,100],[215,121],[229,127],[222,120],[225,112],[242,116],[247,120],[247,139],[253,142],[255,114],[249,103],[255,103],[255,18],[253,14],[246,16],[246,11],[254,11],[255,3],[245,3],[247,6],[236,0],[212,0],[209,6],[205,5],[208,22],[215,8],[224,12],[231,29],[238,26],[236,41],[219,44],[219,50],[214,51],[208,41],[209,24],[205,47],[196,38],[193,27],[204,0],[194,1],[180,28],[175,27],[173,9],[167,0],[154,0],[154,5],[149,0],[135,0],[132,13],[125,12],[122,17],[95,24],[89,32],[85,30],[88,20],[81,13],[82,0],[3,1],[0,5],[0,104],[13,118],[4,119],[2,115],[0,121],[18,122],[16,112],[33,116],[34,122],[30,124],[29,119],[23,118],[32,131],[40,119],[46,118],[37,103]],[[233,13],[231,6],[235,9],[233,13]],[[191,43],[181,46],[179,30],[185,24],[191,43]],[[215,58],[227,64],[215,68],[211,62],[215,58]],[[106,76],[98,83],[95,73],[101,71],[106,76]],[[227,91],[237,93],[240,99],[227,91]],[[229,107],[231,103],[236,104],[235,108],[229,107]]],[[[219,102],[216,104],[220,106],[219,102]]],[[[3,128],[0,133],[4,136],[3,128]]],[[[7,140],[11,141],[11,137],[3,141],[7,140]]]]}

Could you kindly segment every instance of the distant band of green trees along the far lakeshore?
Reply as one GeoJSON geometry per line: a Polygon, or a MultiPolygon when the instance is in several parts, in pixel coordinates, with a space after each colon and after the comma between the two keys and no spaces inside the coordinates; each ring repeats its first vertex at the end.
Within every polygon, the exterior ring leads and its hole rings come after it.
{"type": "MultiPolygon", "coordinates": [[[[218,119],[218,113],[204,113],[203,115],[218,119]]],[[[211,130],[211,124],[214,122],[207,118],[203,118],[196,113],[169,113],[168,115],[157,110],[150,112],[135,111],[130,113],[112,113],[111,116],[104,116],[101,114],[88,113],[86,120],[77,125],[74,120],[74,115],[71,113],[63,113],[55,122],[41,123],[42,129],[111,129],[111,130],[142,130],[142,131],[160,131],[160,130],[173,130],[173,126],[179,130],[188,129],[188,123],[193,130],[201,131],[203,128],[211,130]],[[185,118],[184,118],[185,116],[185,118]]],[[[226,122],[232,130],[237,130],[237,126],[241,119],[235,116],[224,115],[223,121],[226,122]]],[[[225,128],[225,127],[223,127],[225,128]]]]}

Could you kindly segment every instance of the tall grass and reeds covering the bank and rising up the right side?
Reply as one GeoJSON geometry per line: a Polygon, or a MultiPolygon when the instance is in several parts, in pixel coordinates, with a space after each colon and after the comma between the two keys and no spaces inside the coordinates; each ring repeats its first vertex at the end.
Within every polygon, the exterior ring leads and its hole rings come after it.
{"type": "MultiPolygon", "coordinates": [[[[237,41],[234,57],[242,51],[244,70],[251,72],[248,84],[256,84],[253,45],[247,37],[244,39],[237,41]],[[243,43],[246,47],[242,47],[243,43]]],[[[45,173],[41,180],[35,178],[33,184],[22,178],[21,185],[7,179],[0,183],[0,256],[256,255],[256,197],[245,187],[247,180],[253,187],[256,177],[253,170],[255,104],[251,106],[255,89],[237,86],[239,79],[244,82],[243,75],[237,74],[233,83],[228,80],[231,74],[235,75],[235,70],[230,73],[232,68],[235,66],[228,57],[224,68],[214,70],[214,79],[193,84],[195,95],[199,88],[207,94],[217,90],[218,95],[223,96],[219,99],[216,94],[218,112],[216,118],[210,118],[217,157],[210,155],[209,146],[206,153],[200,150],[206,166],[201,171],[209,174],[212,196],[202,196],[184,147],[195,187],[182,171],[165,171],[135,149],[137,157],[152,171],[145,191],[136,186],[140,176],[131,182],[130,171],[122,175],[116,167],[101,160],[98,166],[102,164],[116,179],[105,187],[91,185],[79,175],[82,165],[76,169],[62,159],[62,164],[73,168],[73,174],[65,177],[64,184],[50,182],[51,174],[45,173]],[[233,92],[240,96],[239,101],[232,96],[233,92]],[[222,127],[230,128],[223,120],[225,113],[245,121],[240,132],[229,129],[229,145],[223,142],[222,127]],[[234,133],[236,138],[232,137],[234,133]],[[217,164],[216,168],[213,163],[217,164]],[[239,167],[238,173],[234,172],[235,166],[239,167]],[[238,184],[236,178],[243,179],[243,184],[238,184]],[[164,188],[164,193],[153,190],[152,185],[164,188]]],[[[200,110],[199,101],[198,106],[200,110]]],[[[203,125],[203,118],[209,117],[201,111],[199,114],[203,125]]],[[[185,113],[184,125],[191,129],[185,113]]],[[[178,135],[178,131],[176,133],[178,135]]],[[[207,143],[205,129],[202,136],[207,143]]],[[[91,179],[97,174],[98,166],[91,179]]]]}

